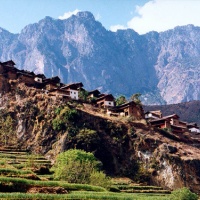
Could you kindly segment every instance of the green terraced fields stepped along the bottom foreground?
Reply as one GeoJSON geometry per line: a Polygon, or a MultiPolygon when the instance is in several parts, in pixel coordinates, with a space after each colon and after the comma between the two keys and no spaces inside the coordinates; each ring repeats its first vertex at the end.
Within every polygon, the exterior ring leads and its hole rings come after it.
{"type": "Polygon", "coordinates": [[[0,149],[0,198],[14,199],[170,199],[170,191],[115,180],[108,191],[86,184],[53,181],[51,162],[14,148],[0,149]],[[111,192],[112,191],[112,192],[111,192]]]}

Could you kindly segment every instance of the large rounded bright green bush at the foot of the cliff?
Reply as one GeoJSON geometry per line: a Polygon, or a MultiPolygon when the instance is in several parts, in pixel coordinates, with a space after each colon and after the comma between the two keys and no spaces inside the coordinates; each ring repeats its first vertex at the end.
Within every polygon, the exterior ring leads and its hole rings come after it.
{"type": "Polygon", "coordinates": [[[56,158],[54,177],[69,183],[90,183],[90,175],[99,169],[100,164],[92,153],[71,149],[56,158]]]}

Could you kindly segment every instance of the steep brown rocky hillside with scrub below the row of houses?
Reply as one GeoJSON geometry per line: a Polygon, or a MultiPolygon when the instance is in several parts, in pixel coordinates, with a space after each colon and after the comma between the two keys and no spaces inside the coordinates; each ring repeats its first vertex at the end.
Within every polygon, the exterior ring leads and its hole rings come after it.
{"type": "Polygon", "coordinates": [[[0,77],[1,146],[42,154],[52,163],[62,151],[83,149],[93,152],[110,176],[200,193],[200,140],[195,135],[154,129],[135,115],[108,116],[106,108],[87,101],[0,77]]]}

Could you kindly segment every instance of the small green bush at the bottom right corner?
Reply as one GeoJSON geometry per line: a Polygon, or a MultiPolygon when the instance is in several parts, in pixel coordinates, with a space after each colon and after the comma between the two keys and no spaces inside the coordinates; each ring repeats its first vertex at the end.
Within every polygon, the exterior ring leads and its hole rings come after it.
{"type": "Polygon", "coordinates": [[[181,188],[172,192],[172,200],[198,200],[198,195],[191,192],[188,188],[181,188]]]}

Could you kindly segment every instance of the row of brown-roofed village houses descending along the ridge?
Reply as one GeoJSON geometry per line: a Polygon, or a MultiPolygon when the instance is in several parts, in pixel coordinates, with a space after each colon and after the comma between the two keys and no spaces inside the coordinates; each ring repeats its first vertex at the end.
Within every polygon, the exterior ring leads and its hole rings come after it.
{"type": "MultiPolygon", "coordinates": [[[[80,93],[86,91],[81,82],[63,84],[58,76],[46,78],[44,74],[35,74],[34,72],[19,70],[15,67],[15,63],[12,60],[0,62],[0,77],[2,80],[17,80],[19,83],[24,83],[28,87],[40,89],[54,100],[62,98],[64,100],[71,99],[79,101],[80,93]]],[[[1,91],[5,89],[3,83],[0,84],[0,89],[1,91]]],[[[97,89],[86,92],[87,100],[94,107],[104,109],[105,113],[109,116],[134,116],[135,119],[145,118],[147,123],[152,127],[164,129],[174,134],[187,131],[200,134],[200,129],[196,123],[183,122],[177,114],[162,116],[160,110],[144,113],[142,107],[134,101],[116,105],[116,99],[112,94],[102,94],[97,89]]]]}

